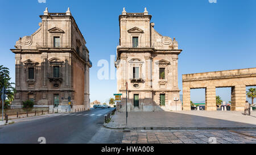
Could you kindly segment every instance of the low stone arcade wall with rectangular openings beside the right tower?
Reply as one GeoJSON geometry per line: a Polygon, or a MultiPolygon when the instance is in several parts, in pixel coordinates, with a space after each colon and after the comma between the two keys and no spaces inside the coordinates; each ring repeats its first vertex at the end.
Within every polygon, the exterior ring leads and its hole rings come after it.
{"type": "Polygon", "coordinates": [[[191,110],[190,90],[205,89],[205,110],[216,108],[216,87],[231,87],[231,110],[245,110],[246,86],[256,86],[256,68],[182,75],[183,110],[191,110]]]}

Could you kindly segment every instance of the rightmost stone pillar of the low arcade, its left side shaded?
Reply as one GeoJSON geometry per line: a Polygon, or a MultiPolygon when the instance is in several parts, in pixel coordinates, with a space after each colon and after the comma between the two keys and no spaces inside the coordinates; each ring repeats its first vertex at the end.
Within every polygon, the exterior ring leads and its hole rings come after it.
{"type": "Polygon", "coordinates": [[[246,86],[236,85],[231,87],[231,110],[243,111],[245,110],[246,101],[246,86]]]}

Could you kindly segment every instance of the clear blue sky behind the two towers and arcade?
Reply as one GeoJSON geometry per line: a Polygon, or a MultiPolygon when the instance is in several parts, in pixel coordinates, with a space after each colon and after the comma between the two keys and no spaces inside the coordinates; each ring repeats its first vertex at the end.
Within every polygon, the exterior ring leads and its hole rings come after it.
{"type": "MultiPolygon", "coordinates": [[[[0,24],[0,64],[10,68],[15,78],[14,48],[19,37],[34,33],[41,21],[39,15],[65,12],[68,7],[83,33],[90,51],[90,100],[105,102],[116,92],[115,80],[99,80],[97,62],[115,55],[119,39],[118,15],[143,12],[147,7],[155,30],[163,36],[176,37],[179,48],[179,88],[182,74],[217,70],[253,68],[256,66],[256,1],[168,0],[168,1],[3,1],[0,24]]],[[[217,89],[217,95],[230,100],[230,88],[217,89]]],[[[204,90],[192,90],[193,101],[204,100],[204,90]]]]}

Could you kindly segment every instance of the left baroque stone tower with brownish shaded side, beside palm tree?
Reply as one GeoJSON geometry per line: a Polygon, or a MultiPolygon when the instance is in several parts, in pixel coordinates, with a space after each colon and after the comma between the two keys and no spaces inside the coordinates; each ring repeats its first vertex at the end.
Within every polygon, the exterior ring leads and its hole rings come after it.
{"type": "Polygon", "coordinates": [[[70,10],[40,15],[39,29],[16,41],[16,94],[12,108],[34,100],[35,107],[89,110],[89,51],[70,10]],[[69,106],[72,103],[72,108],[69,106]]]}

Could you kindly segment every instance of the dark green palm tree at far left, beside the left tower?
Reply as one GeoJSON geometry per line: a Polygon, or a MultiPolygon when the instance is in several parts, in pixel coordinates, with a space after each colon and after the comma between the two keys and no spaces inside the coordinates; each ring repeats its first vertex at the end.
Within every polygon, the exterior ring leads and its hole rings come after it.
{"type": "MultiPolygon", "coordinates": [[[[9,72],[9,68],[4,67],[3,65],[0,65],[0,95],[2,95],[2,89],[3,86],[6,89],[6,96],[8,98],[8,100],[11,102],[14,99],[14,93],[15,93],[15,88],[12,86],[15,83],[10,82],[11,78],[10,78],[10,72],[9,72]]],[[[5,103],[5,104],[10,104],[10,102],[5,103]]],[[[2,103],[2,99],[0,98],[0,103],[2,103]]],[[[2,108],[2,104],[0,106],[2,108]]],[[[9,107],[9,106],[5,106],[4,107],[9,107]]]]}

